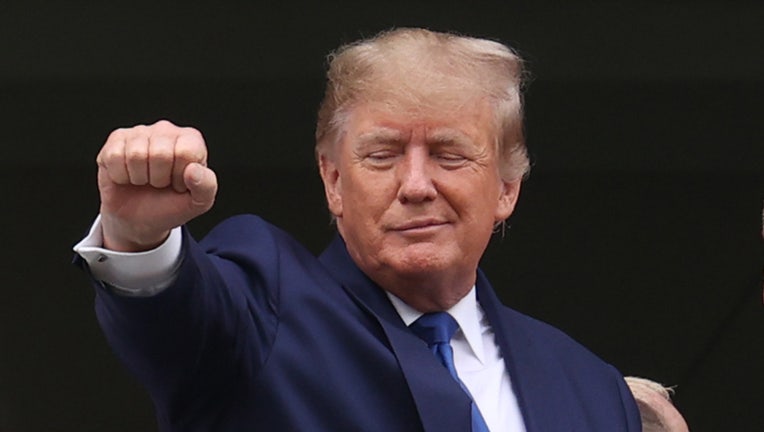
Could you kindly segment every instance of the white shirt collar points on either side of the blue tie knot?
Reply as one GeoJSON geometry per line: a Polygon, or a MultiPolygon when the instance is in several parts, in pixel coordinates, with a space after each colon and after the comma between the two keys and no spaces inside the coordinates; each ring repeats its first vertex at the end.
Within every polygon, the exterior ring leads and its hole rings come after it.
{"type": "MultiPolygon", "coordinates": [[[[412,308],[406,302],[399,299],[390,292],[385,291],[385,293],[387,294],[387,297],[390,299],[390,302],[393,304],[393,307],[395,307],[395,310],[398,312],[398,315],[400,315],[403,323],[406,324],[406,326],[411,325],[411,323],[416,321],[420,316],[424,315],[422,312],[412,308]]],[[[475,286],[473,285],[472,289],[467,293],[467,295],[462,297],[458,303],[456,303],[446,312],[454,317],[456,322],[459,323],[460,331],[456,332],[454,338],[459,338],[461,334],[461,337],[463,337],[467,342],[467,345],[470,347],[470,350],[472,350],[475,357],[477,357],[481,363],[485,363],[483,352],[483,336],[480,324],[483,316],[483,310],[480,308],[480,305],[477,302],[475,286]]]]}

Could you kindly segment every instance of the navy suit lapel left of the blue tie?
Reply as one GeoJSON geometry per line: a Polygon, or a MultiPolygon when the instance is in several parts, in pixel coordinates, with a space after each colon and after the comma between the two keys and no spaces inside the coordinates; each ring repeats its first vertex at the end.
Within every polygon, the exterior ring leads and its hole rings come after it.
{"type": "Polygon", "coordinates": [[[319,260],[359,307],[382,327],[406,378],[424,430],[469,430],[469,397],[426,344],[406,327],[384,290],[355,265],[339,236],[319,260]]]}

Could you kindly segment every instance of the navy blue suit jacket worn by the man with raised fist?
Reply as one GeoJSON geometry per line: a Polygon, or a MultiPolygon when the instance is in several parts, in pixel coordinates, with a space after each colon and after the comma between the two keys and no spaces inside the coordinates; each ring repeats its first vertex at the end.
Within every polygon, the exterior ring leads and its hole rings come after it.
{"type": "MultiPolygon", "coordinates": [[[[163,431],[469,431],[470,400],[404,325],[341,238],[317,259],[254,216],[200,243],[173,286],[97,289],[117,355],[163,431]]],[[[621,375],[560,331],[503,306],[478,272],[529,432],[639,431],[621,375]]]]}

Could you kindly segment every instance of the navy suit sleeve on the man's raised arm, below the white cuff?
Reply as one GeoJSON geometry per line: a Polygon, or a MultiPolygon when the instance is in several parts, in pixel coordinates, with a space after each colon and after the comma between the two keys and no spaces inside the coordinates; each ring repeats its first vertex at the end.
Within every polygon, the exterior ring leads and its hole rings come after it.
{"type": "Polygon", "coordinates": [[[160,422],[226,405],[267,359],[278,324],[280,243],[238,217],[201,243],[183,230],[178,278],[152,297],[97,288],[96,314],[117,356],[148,388],[160,422]]]}

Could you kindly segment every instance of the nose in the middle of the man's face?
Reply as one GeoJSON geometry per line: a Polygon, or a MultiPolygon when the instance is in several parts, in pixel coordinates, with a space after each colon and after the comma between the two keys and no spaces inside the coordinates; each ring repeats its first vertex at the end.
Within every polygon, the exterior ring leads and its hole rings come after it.
{"type": "Polygon", "coordinates": [[[424,146],[410,146],[398,166],[400,186],[398,200],[401,203],[432,201],[438,195],[433,183],[429,150],[424,146]]]}

